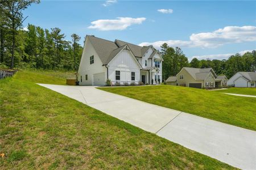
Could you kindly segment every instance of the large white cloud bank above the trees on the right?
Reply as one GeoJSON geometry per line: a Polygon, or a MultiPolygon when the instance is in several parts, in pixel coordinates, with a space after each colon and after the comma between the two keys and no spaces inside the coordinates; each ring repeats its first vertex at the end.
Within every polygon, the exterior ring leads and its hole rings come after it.
{"type": "Polygon", "coordinates": [[[254,26],[228,26],[213,32],[193,33],[189,41],[166,40],[156,42],[142,42],[141,44],[152,44],[160,49],[160,45],[166,42],[169,46],[216,48],[218,46],[238,42],[256,41],[256,27],[254,26]]]}

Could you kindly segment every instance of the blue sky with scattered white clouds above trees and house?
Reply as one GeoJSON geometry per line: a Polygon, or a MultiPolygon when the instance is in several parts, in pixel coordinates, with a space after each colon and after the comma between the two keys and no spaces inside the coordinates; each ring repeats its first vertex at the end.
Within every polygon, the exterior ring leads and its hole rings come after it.
{"type": "Polygon", "coordinates": [[[77,33],[155,48],[167,42],[189,59],[256,49],[255,1],[41,1],[23,15],[24,27],[59,27],[66,40],[77,33]]]}

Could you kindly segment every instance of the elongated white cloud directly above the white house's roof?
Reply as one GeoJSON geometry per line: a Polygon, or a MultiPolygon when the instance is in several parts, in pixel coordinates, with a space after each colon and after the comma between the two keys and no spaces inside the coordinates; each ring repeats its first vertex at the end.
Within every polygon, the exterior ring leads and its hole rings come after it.
{"type": "Polygon", "coordinates": [[[133,24],[141,24],[146,18],[118,17],[117,19],[99,19],[91,22],[88,28],[101,31],[123,30],[133,24]]]}

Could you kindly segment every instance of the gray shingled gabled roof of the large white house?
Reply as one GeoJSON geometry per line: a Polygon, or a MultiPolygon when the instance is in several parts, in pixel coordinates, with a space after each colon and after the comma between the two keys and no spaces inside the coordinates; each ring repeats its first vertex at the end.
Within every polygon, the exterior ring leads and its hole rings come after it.
{"type": "MultiPolygon", "coordinates": [[[[107,65],[123,49],[123,46],[125,45],[129,46],[131,52],[134,54],[135,57],[143,57],[147,50],[151,48],[151,45],[138,46],[121,40],[115,40],[113,42],[90,35],[86,35],[86,39],[87,38],[92,43],[103,65],[107,65]]],[[[153,53],[155,52],[156,50],[154,50],[153,53]]]]}

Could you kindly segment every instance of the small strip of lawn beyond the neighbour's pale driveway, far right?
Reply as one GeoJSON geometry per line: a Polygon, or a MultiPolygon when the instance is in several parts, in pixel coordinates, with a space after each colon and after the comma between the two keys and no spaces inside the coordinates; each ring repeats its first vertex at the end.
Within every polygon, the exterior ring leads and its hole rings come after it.
{"type": "Polygon", "coordinates": [[[256,88],[255,87],[248,87],[248,88],[232,87],[232,88],[228,88],[226,90],[216,90],[216,92],[256,96],[256,88]]]}

